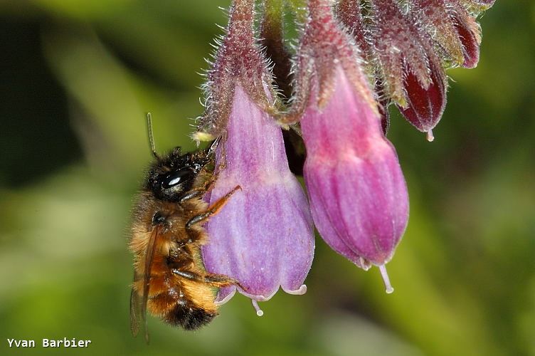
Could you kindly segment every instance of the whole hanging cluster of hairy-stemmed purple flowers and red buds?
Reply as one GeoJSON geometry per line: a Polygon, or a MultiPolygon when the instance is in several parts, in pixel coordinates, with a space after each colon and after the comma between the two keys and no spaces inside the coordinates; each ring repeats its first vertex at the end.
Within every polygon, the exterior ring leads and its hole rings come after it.
{"type": "MultiPolygon", "coordinates": [[[[207,73],[196,140],[221,137],[209,201],[241,190],[208,223],[208,271],[268,300],[306,291],[314,224],[334,251],[386,273],[408,222],[408,193],[386,139],[394,104],[433,140],[452,66],[479,60],[476,18],[492,0],[308,0],[290,54],[284,13],[297,1],[234,0],[207,73]],[[287,4],[288,3],[288,4],[287,4]],[[288,98],[289,97],[289,98],[288,98]],[[308,200],[290,172],[282,130],[302,136],[308,200]],[[309,205],[310,204],[310,205],[309,205]]],[[[290,146],[290,145],[289,145],[290,146]]],[[[300,171],[299,169],[297,169],[300,171]]],[[[218,302],[236,288],[223,288],[218,302]]]]}

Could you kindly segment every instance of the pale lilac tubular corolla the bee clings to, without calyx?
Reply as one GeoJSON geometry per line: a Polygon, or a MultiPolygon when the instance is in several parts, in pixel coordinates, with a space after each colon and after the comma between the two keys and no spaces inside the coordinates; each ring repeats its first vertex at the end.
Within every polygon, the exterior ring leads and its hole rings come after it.
{"type": "MultiPolygon", "coordinates": [[[[211,241],[203,258],[208,271],[237,279],[244,288],[240,293],[253,300],[261,315],[256,302],[270,299],[279,286],[287,293],[305,293],[303,281],[314,255],[312,216],[288,167],[280,127],[240,85],[226,132],[217,157],[226,168],[210,201],[238,185],[241,191],[209,221],[211,241]]],[[[235,289],[221,289],[218,302],[225,303],[235,289]]]]}

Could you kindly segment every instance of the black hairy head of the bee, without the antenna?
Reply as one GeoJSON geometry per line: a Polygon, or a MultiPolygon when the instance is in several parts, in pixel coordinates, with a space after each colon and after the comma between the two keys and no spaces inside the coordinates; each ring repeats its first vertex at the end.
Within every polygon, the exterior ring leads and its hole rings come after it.
{"type": "Polygon", "coordinates": [[[206,164],[213,162],[213,150],[187,152],[182,155],[180,147],[166,156],[157,158],[149,168],[146,189],[161,200],[179,201],[191,190],[197,174],[206,164]]]}

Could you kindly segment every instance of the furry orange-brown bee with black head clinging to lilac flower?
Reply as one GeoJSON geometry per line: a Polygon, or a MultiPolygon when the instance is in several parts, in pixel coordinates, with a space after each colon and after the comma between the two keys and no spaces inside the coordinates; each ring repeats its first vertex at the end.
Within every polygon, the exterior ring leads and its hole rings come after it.
{"type": "Polygon", "coordinates": [[[233,278],[206,271],[201,246],[208,238],[203,223],[240,187],[208,206],[202,198],[217,179],[214,169],[219,140],[206,150],[183,154],[176,147],[160,157],[150,113],[147,124],[154,162],[134,206],[129,249],[134,254],[132,335],[137,335],[142,324],[149,342],[147,310],[166,323],[195,330],[217,315],[217,289],[239,286],[233,278]]]}

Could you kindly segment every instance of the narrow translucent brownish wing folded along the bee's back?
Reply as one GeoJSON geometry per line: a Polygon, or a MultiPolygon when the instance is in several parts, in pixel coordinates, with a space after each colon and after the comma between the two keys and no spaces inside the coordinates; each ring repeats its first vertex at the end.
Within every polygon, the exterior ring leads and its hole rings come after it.
{"type": "MultiPolygon", "coordinates": [[[[154,227],[147,251],[145,252],[145,268],[143,274],[143,293],[139,295],[132,288],[132,295],[130,295],[130,329],[132,335],[136,336],[139,332],[139,324],[142,323],[145,329],[145,340],[149,343],[149,327],[147,325],[147,301],[149,300],[149,282],[152,268],[152,258],[154,250],[156,249],[156,240],[158,239],[160,226],[154,227]]],[[[139,276],[134,275],[134,282],[139,281],[139,276]]]]}

